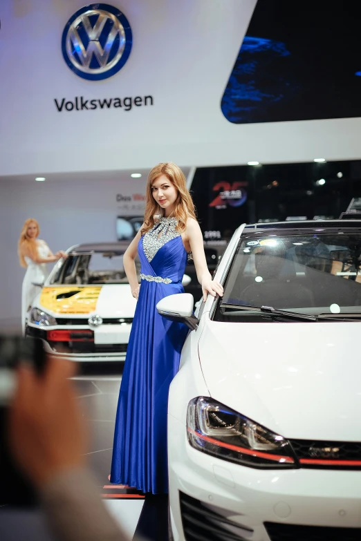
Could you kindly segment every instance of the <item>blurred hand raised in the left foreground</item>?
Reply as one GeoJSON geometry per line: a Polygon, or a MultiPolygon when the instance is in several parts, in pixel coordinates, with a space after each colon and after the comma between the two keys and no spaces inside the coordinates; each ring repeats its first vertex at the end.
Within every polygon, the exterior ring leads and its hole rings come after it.
{"type": "Polygon", "coordinates": [[[86,430],[77,405],[71,361],[48,357],[44,374],[22,364],[10,405],[12,455],[37,488],[53,475],[85,462],[86,430]]]}

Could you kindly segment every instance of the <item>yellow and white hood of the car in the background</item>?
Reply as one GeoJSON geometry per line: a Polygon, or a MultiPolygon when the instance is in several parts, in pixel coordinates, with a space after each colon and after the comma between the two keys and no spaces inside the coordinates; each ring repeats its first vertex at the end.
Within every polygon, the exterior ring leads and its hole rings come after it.
{"type": "Polygon", "coordinates": [[[121,318],[134,316],[136,299],[129,284],[54,286],[44,287],[33,306],[55,317],[98,314],[102,318],[121,318]]]}

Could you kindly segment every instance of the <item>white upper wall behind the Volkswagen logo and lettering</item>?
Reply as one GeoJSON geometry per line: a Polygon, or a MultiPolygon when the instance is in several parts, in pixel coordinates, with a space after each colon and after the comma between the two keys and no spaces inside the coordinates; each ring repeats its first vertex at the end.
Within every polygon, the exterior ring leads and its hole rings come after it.
{"type": "MultiPolygon", "coordinates": [[[[107,0],[133,32],[125,66],[87,81],[62,56],[85,0],[0,2],[0,175],[360,158],[361,118],[232,124],[221,97],[257,0],[107,0]],[[59,112],[62,99],[153,105],[59,112]]],[[[272,77],[272,74],[270,74],[272,77]]]]}

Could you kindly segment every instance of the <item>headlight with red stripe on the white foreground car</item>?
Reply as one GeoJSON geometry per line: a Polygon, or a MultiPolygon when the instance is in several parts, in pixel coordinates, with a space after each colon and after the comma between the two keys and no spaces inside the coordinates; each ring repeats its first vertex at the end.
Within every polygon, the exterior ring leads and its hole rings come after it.
{"type": "Polygon", "coordinates": [[[210,398],[189,402],[187,435],[195,449],[229,462],[252,468],[299,467],[284,437],[210,398]]]}

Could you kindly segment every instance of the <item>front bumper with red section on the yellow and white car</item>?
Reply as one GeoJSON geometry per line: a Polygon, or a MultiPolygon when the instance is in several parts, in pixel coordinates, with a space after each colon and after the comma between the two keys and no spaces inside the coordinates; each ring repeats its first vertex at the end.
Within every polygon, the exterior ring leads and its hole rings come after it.
{"type": "Polygon", "coordinates": [[[39,338],[44,343],[44,349],[53,357],[68,359],[77,362],[124,362],[127,354],[129,332],[124,333],[124,342],[122,343],[95,343],[93,333],[89,327],[80,327],[72,325],[71,327],[62,326],[39,328],[37,325],[27,323],[25,335],[32,338],[39,338]],[[60,330],[70,334],[66,341],[53,341],[49,339],[52,331],[60,330]]]}

